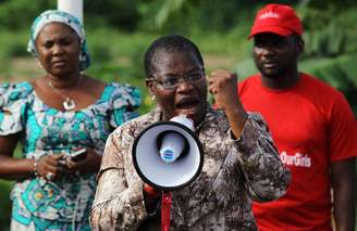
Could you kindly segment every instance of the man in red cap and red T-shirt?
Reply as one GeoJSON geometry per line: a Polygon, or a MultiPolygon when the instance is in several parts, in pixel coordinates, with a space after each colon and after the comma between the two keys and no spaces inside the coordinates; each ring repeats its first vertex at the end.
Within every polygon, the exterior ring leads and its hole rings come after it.
{"type": "MultiPolygon", "coordinates": [[[[254,214],[261,231],[331,231],[332,213],[336,230],[352,231],[356,119],[341,92],[298,72],[301,35],[300,20],[282,4],[261,9],[249,35],[260,73],[239,84],[241,102],[266,118],[292,171],[287,193],[255,203],[254,214]]],[[[234,74],[220,69],[210,75],[234,74]]]]}

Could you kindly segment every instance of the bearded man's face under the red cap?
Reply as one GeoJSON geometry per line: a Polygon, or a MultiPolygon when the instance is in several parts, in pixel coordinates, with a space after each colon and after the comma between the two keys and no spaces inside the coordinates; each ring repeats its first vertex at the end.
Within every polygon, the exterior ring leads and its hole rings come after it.
{"type": "Polygon", "coordinates": [[[267,78],[279,78],[297,68],[300,51],[301,47],[294,36],[263,33],[254,37],[254,60],[267,78]]]}

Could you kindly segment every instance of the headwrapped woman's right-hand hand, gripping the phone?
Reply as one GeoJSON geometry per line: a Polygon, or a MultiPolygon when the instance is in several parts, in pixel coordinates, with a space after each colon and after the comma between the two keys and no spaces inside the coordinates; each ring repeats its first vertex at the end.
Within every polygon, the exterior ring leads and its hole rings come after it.
{"type": "Polygon", "coordinates": [[[101,156],[94,150],[86,149],[87,155],[84,159],[74,162],[71,157],[65,158],[65,167],[72,172],[91,174],[99,170],[101,156]]]}

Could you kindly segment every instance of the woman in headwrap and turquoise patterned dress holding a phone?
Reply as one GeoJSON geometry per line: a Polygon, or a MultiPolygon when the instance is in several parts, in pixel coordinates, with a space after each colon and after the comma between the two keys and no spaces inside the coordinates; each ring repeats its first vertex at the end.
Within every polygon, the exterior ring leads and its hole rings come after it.
{"type": "Polygon", "coordinates": [[[90,230],[88,214],[104,142],[137,116],[136,88],[85,74],[90,62],[81,22],[46,11],[28,51],[45,69],[32,81],[0,86],[0,178],[16,180],[11,230],[90,230]],[[14,158],[17,142],[22,158],[14,158]],[[84,156],[72,156],[84,150],[84,156]]]}

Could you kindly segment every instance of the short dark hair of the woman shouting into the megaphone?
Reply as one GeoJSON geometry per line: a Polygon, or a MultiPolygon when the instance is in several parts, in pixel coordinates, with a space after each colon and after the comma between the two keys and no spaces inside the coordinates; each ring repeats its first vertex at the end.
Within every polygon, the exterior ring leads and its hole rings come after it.
{"type": "Polygon", "coordinates": [[[144,55],[145,74],[147,78],[156,72],[155,61],[160,59],[159,52],[187,52],[194,54],[198,62],[204,66],[204,59],[198,50],[198,47],[181,35],[165,35],[156,39],[150,47],[147,49],[144,55]]]}

